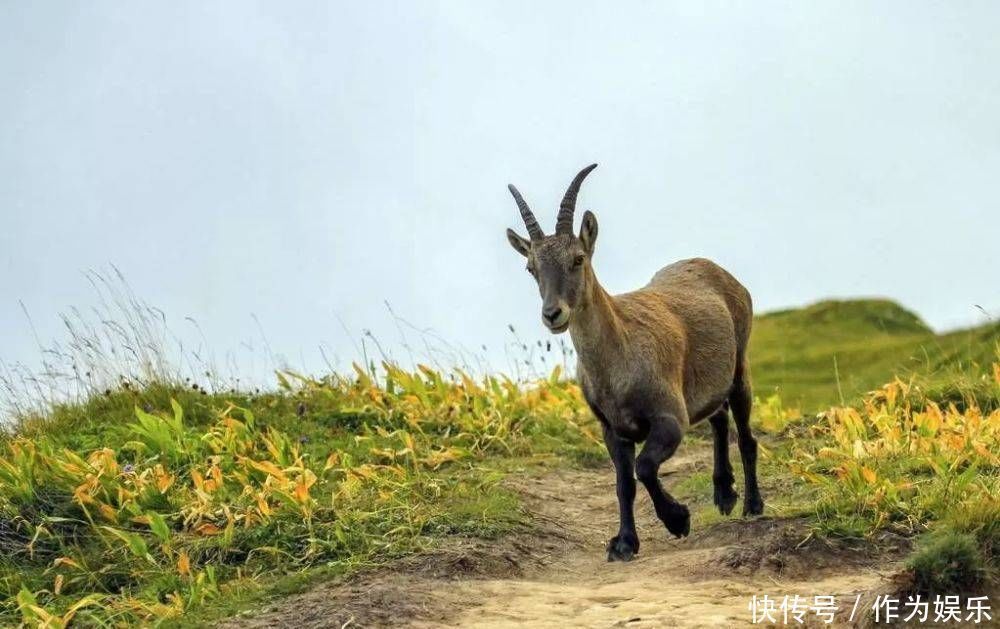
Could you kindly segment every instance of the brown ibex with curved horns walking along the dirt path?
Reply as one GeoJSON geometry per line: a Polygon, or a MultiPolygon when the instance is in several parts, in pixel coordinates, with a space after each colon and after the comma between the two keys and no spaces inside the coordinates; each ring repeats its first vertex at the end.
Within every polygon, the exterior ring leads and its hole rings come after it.
{"type": "Polygon", "coordinates": [[[763,512],[757,441],[750,431],[747,342],[753,308],[747,289],[704,258],[664,267],[637,291],[605,292],[592,265],[594,214],[585,212],[580,235],[573,234],[580,185],[596,167],[584,168],[573,179],[550,236],[517,188],[508,186],[529,239],[511,229],[507,239],[528,259],[528,272],[538,282],[542,322],[555,334],[569,330],[573,340],[577,379],[601,423],[617,475],[620,527],[608,542],[608,561],[629,561],[639,552],[633,515],[636,476],[667,530],[677,537],[689,533],[687,507],[664,491],[658,474],[684,431],[706,417],[714,437],[716,506],[728,515],[738,497],[729,462],[732,410],[743,460],[743,515],[763,512]],[[638,457],[637,443],[643,443],[638,457]]]}

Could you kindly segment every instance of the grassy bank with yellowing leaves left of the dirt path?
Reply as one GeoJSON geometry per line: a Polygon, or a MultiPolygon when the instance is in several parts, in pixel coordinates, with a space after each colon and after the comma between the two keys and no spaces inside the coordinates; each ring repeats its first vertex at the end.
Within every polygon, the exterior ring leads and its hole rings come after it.
{"type": "Polygon", "coordinates": [[[0,440],[0,625],[209,622],[447,537],[510,533],[524,515],[508,469],[603,449],[558,373],[280,381],[123,386],[25,418],[0,440]]]}

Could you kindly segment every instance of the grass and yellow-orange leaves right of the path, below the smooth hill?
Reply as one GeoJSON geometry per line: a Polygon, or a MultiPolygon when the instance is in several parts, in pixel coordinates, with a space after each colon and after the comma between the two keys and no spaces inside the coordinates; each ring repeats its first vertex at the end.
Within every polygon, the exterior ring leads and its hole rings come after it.
{"type": "MultiPolygon", "coordinates": [[[[996,351],[996,350],[995,350],[996,351]]],[[[825,537],[917,539],[907,591],[974,592],[1000,574],[1000,353],[979,377],[895,380],[787,424],[761,474],[804,483],[785,514],[825,537]]]]}

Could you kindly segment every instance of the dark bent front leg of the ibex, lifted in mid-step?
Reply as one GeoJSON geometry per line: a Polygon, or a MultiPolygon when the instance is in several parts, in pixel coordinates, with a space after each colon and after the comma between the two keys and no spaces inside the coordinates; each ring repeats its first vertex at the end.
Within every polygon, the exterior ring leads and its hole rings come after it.
{"type": "Polygon", "coordinates": [[[651,418],[649,436],[635,463],[636,475],[653,500],[656,516],[677,537],[686,536],[691,531],[691,514],[687,507],[664,491],[659,472],[660,465],[677,450],[683,434],[677,416],[665,414],[651,418]]]}

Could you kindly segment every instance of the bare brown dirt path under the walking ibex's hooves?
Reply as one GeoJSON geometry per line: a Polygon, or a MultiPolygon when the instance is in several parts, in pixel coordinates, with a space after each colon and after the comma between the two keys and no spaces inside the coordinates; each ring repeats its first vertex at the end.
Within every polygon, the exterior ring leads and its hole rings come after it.
{"type": "MultiPolygon", "coordinates": [[[[705,469],[709,457],[707,449],[694,449],[668,462],[666,482],[705,469]]],[[[230,622],[297,629],[731,627],[750,624],[754,594],[779,601],[798,594],[807,605],[816,595],[836,596],[846,619],[856,594],[878,587],[898,557],[892,548],[802,543],[807,533],[797,520],[734,518],[703,527],[695,519],[692,535],[675,540],[640,492],[641,553],[630,563],[608,563],[604,546],[617,529],[613,472],[558,471],[515,486],[538,524],[530,534],[462,540],[230,622]]]]}

